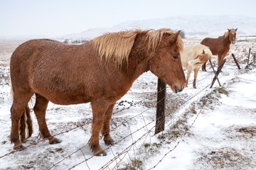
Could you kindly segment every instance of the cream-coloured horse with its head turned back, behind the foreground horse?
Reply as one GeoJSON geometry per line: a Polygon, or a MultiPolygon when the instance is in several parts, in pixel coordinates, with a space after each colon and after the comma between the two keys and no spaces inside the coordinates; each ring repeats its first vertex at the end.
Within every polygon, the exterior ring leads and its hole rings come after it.
{"type": "Polygon", "coordinates": [[[186,46],[181,52],[181,63],[183,68],[188,68],[186,76],[186,86],[188,86],[188,79],[191,74],[191,70],[194,70],[193,88],[196,89],[196,77],[198,71],[207,60],[211,60],[213,54],[210,49],[205,45],[193,44],[186,46]]]}

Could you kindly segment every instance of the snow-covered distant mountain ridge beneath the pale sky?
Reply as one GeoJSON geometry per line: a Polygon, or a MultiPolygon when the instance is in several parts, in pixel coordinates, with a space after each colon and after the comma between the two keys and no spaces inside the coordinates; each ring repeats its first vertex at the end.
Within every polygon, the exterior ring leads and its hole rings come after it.
{"type": "Polygon", "coordinates": [[[183,30],[187,38],[218,37],[223,35],[227,28],[238,28],[238,35],[256,35],[256,18],[245,16],[178,16],[144,21],[127,21],[112,28],[92,28],[82,33],[65,35],[64,38],[91,39],[103,33],[131,28],[183,30]]]}

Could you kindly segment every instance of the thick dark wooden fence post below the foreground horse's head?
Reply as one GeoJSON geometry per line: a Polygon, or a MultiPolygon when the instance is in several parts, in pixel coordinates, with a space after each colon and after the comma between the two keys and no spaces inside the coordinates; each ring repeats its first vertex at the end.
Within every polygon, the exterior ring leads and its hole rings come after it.
{"type": "Polygon", "coordinates": [[[164,124],[165,124],[165,98],[166,98],[166,84],[161,79],[158,79],[155,135],[157,133],[159,133],[159,132],[164,130],[164,124]]]}

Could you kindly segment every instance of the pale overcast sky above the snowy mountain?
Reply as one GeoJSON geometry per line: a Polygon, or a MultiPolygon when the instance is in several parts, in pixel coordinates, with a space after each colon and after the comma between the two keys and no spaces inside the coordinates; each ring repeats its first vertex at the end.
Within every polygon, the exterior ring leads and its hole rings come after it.
{"type": "Polygon", "coordinates": [[[0,36],[58,36],[124,21],[198,15],[256,17],[256,0],[0,0],[0,36]]]}

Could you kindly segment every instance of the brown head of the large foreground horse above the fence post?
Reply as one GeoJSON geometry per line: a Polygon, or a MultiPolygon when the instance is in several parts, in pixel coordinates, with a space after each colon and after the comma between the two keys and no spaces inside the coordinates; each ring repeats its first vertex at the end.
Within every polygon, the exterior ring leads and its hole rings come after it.
{"type": "Polygon", "coordinates": [[[171,86],[175,93],[182,91],[186,84],[185,74],[181,66],[180,51],[183,50],[183,41],[179,34],[164,33],[159,47],[152,53],[149,60],[149,69],[157,77],[171,86]]]}

